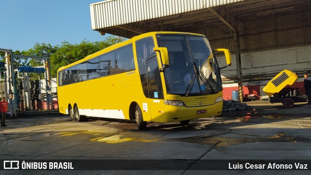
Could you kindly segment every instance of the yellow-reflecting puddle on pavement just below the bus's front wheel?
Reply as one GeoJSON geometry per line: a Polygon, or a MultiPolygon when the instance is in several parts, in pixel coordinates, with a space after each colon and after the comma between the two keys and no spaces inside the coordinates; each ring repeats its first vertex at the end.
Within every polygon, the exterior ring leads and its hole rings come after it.
{"type": "Polygon", "coordinates": [[[139,138],[133,138],[133,137],[129,137],[129,138],[121,138],[122,135],[113,135],[110,137],[98,137],[98,138],[94,138],[91,139],[90,141],[92,142],[105,142],[105,143],[123,143],[123,142],[154,142],[154,141],[158,141],[157,139],[155,140],[146,140],[146,139],[139,139],[139,138]]]}

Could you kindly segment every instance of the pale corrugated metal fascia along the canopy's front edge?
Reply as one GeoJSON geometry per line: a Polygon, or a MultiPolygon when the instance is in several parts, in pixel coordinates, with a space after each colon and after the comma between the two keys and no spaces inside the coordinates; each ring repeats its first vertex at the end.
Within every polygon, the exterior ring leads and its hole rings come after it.
{"type": "MultiPolygon", "coordinates": [[[[105,0],[90,5],[92,29],[98,30],[162,17],[165,19],[168,16],[170,17],[167,19],[180,21],[178,17],[183,16],[183,13],[202,14],[198,10],[238,1],[242,0],[105,0]],[[194,11],[197,12],[193,13],[194,11]]],[[[195,18],[202,17],[206,16],[195,16],[195,18]]]]}

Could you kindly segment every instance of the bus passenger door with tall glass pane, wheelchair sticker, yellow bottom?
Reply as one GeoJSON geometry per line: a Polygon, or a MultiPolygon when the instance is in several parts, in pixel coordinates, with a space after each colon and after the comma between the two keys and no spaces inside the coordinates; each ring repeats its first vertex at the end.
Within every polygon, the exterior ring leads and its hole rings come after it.
{"type": "Polygon", "coordinates": [[[164,122],[164,112],[161,109],[164,104],[164,95],[156,56],[147,61],[146,69],[152,121],[164,122]]]}

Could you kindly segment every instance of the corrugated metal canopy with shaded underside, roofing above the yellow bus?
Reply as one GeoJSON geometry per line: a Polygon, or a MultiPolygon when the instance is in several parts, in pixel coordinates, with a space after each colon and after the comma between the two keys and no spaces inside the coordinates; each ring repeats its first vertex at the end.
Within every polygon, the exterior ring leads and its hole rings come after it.
{"type": "Polygon", "coordinates": [[[200,32],[224,22],[238,29],[243,20],[310,11],[310,5],[310,0],[105,0],[90,4],[90,12],[93,30],[131,38],[152,31],[200,32]]]}

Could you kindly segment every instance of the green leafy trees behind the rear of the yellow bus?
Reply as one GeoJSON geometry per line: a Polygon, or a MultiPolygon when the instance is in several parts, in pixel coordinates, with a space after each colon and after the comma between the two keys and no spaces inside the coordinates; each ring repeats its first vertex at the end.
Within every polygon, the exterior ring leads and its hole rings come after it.
{"type": "MultiPolygon", "coordinates": [[[[70,44],[63,41],[61,46],[51,44],[36,43],[35,46],[26,51],[15,51],[13,54],[29,55],[36,57],[50,58],[51,76],[56,77],[59,67],[71,64],[99,50],[124,41],[125,38],[119,36],[108,36],[104,41],[89,42],[83,40],[79,44],[70,44]]],[[[4,62],[4,52],[0,52],[0,61],[4,62]]],[[[14,68],[19,66],[39,66],[43,65],[42,60],[28,58],[14,58],[14,68]]]]}

